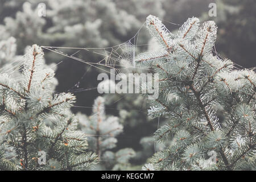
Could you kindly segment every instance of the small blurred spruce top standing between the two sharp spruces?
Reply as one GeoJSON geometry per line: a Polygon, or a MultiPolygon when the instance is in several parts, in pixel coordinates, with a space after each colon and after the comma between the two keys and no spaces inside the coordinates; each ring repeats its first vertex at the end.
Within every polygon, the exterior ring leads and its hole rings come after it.
{"type": "Polygon", "coordinates": [[[97,97],[93,105],[93,113],[90,117],[78,113],[81,130],[89,136],[89,148],[96,152],[100,158],[98,169],[124,170],[130,167],[129,159],[135,152],[131,148],[123,148],[117,152],[109,151],[116,146],[117,135],[122,133],[123,126],[118,117],[105,115],[105,103],[103,97],[97,97]]]}

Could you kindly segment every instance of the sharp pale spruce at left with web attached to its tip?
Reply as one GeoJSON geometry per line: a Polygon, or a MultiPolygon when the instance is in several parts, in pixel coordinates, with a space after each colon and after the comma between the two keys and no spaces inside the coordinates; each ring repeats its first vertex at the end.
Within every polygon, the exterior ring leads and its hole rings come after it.
{"type": "Polygon", "coordinates": [[[39,46],[23,60],[19,78],[0,75],[0,170],[88,169],[97,156],[87,151],[85,135],[76,130],[70,111],[75,96],[54,94],[54,72],[44,68],[39,46]]]}

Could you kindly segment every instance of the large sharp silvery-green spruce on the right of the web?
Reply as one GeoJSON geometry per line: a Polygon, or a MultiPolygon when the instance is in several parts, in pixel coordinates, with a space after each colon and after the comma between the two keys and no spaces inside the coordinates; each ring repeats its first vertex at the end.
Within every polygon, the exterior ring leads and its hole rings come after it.
{"type": "Polygon", "coordinates": [[[162,46],[136,59],[159,74],[159,98],[151,101],[148,115],[169,119],[155,132],[156,141],[174,138],[143,169],[255,169],[255,72],[234,69],[232,61],[213,55],[213,21],[189,18],[177,34],[155,16],[146,23],[162,46]]]}

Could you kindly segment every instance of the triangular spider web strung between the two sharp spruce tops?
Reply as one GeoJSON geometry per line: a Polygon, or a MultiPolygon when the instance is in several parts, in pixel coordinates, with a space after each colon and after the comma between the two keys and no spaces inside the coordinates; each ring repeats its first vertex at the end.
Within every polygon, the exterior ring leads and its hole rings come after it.
{"type": "MultiPolygon", "coordinates": [[[[141,28],[144,26],[142,24],[141,28]]],[[[105,68],[114,69],[115,74],[127,74],[130,73],[135,68],[135,53],[137,51],[137,46],[147,46],[147,44],[138,45],[139,38],[139,28],[138,32],[133,36],[133,38],[127,40],[124,43],[118,44],[113,47],[105,47],[105,48],[82,48],[82,47],[51,47],[51,46],[42,46],[42,48],[47,49],[49,51],[55,52],[59,55],[69,57],[70,59],[74,59],[89,65],[90,67],[94,67],[100,69],[101,71],[108,72],[105,68]],[[65,50],[75,50],[75,52],[68,54],[65,53],[65,50]],[[85,59],[81,59],[79,57],[79,53],[81,52],[90,52],[102,57],[101,60],[96,61],[87,61],[85,59]]],[[[111,73],[110,73],[111,74],[111,73]]]]}

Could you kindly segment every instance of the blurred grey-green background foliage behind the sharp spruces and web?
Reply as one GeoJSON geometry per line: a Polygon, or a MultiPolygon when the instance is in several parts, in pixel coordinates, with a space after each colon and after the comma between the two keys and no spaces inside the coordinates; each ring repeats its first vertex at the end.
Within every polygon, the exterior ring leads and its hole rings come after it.
{"type": "MultiPolygon", "coordinates": [[[[0,41],[6,42],[11,36],[16,39],[16,55],[11,58],[23,55],[24,49],[32,44],[87,48],[115,46],[132,38],[149,14],[162,18],[171,31],[179,27],[176,24],[182,24],[192,16],[201,21],[214,20],[218,26],[217,52],[242,67],[255,67],[255,0],[1,0],[0,41]],[[216,17],[208,14],[211,2],[217,5],[216,17]],[[38,16],[39,3],[46,4],[45,17],[38,16]]],[[[140,43],[148,43],[150,35],[146,28],[139,32],[139,38],[140,43]]],[[[9,42],[15,40],[9,39],[9,42]]],[[[97,87],[99,69],[49,51],[45,51],[45,55],[47,64],[63,61],[57,65],[59,84],[56,92],[97,87]]],[[[98,55],[88,52],[81,53],[80,57],[100,60],[98,55]]],[[[1,67],[2,64],[3,60],[0,60],[1,67]]],[[[76,105],[90,107],[99,94],[93,89],[75,95],[76,105]]],[[[119,117],[124,126],[112,151],[133,148],[136,156],[130,162],[139,169],[155,150],[168,145],[155,144],[151,137],[156,127],[163,125],[164,118],[159,118],[159,123],[158,119],[148,118],[147,100],[142,96],[108,94],[104,97],[106,113],[119,117]]],[[[73,111],[90,115],[92,109],[76,107],[73,111]]]]}

